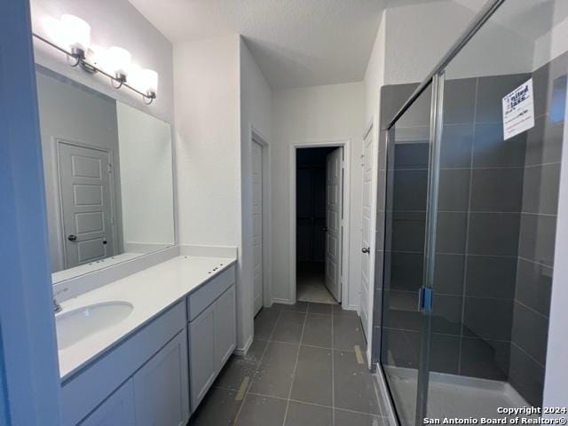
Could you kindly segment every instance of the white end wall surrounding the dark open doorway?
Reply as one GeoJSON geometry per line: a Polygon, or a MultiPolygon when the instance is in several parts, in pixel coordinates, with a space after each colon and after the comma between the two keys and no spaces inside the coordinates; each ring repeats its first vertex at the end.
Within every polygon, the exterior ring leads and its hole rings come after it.
{"type": "Polygon", "coordinates": [[[298,142],[351,139],[351,234],[349,296],[359,307],[361,166],[365,84],[346,83],[272,92],[272,298],[291,301],[289,154],[298,142]]]}

